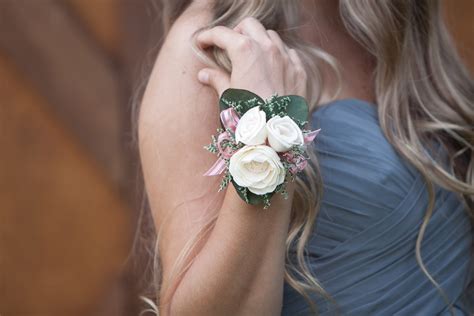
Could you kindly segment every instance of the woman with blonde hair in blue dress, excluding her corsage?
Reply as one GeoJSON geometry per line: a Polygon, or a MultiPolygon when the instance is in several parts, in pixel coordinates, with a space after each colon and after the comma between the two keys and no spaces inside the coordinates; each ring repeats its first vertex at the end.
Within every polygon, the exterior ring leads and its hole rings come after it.
{"type": "Polygon", "coordinates": [[[138,120],[160,315],[474,312],[474,85],[437,1],[163,2],[138,120]],[[228,87],[321,128],[265,212],[202,176],[228,87]]]}

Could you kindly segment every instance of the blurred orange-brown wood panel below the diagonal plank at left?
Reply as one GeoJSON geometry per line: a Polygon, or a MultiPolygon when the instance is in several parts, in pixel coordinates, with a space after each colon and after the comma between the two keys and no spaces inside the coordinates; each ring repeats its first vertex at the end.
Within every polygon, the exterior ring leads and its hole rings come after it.
{"type": "Polygon", "coordinates": [[[96,315],[128,254],[131,212],[2,55],[0,98],[0,314],[96,315]]]}

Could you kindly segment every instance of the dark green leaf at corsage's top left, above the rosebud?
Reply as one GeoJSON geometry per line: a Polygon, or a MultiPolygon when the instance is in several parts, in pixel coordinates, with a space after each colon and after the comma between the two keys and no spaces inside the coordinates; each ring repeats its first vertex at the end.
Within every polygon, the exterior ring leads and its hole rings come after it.
{"type": "Polygon", "coordinates": [[[219,98],[219,107],[221,111],[233,107],[240,115],[243,115],[254,106],[262,105],[264,103],[265,101],[263,101],[261,97],[245,89],[228,88],[222,92],[222,95],[219,98]]]}

